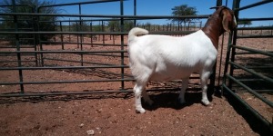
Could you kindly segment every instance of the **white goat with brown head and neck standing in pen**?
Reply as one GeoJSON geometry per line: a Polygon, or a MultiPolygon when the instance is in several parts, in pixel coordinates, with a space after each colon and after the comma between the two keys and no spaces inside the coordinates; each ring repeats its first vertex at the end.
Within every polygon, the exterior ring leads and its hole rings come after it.
{"type": "Polygon", "coordinates": [[[218,38],[236,27],[233,12],[226,6],[217,7],[205,26],[193,34],[182,37],[148,34],[148,31],[135,27],[128,34],[129,66],[136,79],[134,87],[136,112],[144,113],[141,96],[152,104],[147,96],[149,81],[170,81],[182,79],[180,103],[185,103],[185,91],[191,73],[199,73],[202,87],[202,100],[207,100],[207,80],[217,59],[218,38]],[[144,34],[137,36],[138,34],[144,34]]]}

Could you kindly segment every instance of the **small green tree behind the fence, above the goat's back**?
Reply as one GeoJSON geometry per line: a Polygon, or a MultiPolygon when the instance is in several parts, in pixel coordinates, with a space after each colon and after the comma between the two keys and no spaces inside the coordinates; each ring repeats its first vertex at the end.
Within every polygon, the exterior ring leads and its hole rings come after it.
{"type": "MultiPolygon", "coordinates": [[[[183,16],[183,15],[197,15],[197,8],[196,7],[190,7],[187,5],[179,5],[172,8],[172,15],[173,16],[183,16]]],[[[190,18],[173,18],[171,19],[172,22],[177,22],[177,24],[184,24],[191,22],[192,19],[190,18]]]]}

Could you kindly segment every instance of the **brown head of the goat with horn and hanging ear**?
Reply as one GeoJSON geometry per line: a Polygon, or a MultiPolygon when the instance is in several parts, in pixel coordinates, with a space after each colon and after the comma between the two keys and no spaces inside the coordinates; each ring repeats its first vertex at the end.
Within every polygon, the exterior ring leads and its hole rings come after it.
{"type": "Polygon", "coordinates": [[[211,7],[210,9],[212,8],[217,9],[215,14],[217,14],[218,17],[222,19],[222,26],[224,30],[227,31],[228,33],[230,33],[230,31],[233,31],[237,25],[237,21],[233,11],[227,8],[226,6],[211,7]]]}

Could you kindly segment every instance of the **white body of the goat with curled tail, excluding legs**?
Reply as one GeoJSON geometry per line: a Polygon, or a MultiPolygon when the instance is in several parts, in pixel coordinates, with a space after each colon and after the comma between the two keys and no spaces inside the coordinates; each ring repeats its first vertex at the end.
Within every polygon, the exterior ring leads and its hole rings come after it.
{"type": "Polygon", "coordinates": [[[141,83],[184,79],[191,73],[210,71],[217,57],[217,49],[202,30],[183,37],[136,34],[147,34],[147,30],[133,28],[128,41],[130,68],[141,83]]]}

